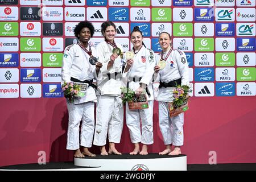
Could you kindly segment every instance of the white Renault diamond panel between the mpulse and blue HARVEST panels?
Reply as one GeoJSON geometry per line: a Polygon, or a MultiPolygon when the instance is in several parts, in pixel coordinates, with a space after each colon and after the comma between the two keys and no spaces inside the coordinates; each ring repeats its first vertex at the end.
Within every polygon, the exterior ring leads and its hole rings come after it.
{"type": "Polygon", "coordinates": [[[20,97],[40,98],[42,97],[41,84],[20,84],[20,97]]]}

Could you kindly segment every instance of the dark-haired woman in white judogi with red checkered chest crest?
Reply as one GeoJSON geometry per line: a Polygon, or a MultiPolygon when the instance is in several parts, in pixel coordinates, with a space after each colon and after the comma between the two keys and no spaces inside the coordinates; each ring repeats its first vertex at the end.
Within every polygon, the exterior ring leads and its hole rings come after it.
{"type": "Polygon", "coordinates": [[[130,154],[147,155],[147,145],[154,143],[152,76],[154,75],[155,56],[151,49],[143,46],[143,36],[139,27],[134,27],[130,38],[135,56],[126,61],[123,77],[129,82],[129,88],[136,93],[141,94],[143,90],[147,90],[148,100],[148,109],[141,110],[129,110],[126,103],[126,124],[129,127],[131,142],[135,146],[130,154]],[[141,152],[139,149],[140,142],[143,144],[141,152]]]}

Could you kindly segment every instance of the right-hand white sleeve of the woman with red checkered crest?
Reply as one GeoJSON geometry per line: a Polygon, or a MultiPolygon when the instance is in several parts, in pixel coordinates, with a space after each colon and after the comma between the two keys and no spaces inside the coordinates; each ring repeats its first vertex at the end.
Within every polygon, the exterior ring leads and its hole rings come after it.
{"type": "MultiPolygon", "coordinates": [[[[147,49],[146,51],[149,52],[147,49]]],[[[155,67],[155,55],[154,51],[152,51],[152,54],[149,53],[146,55],[146,73],[141,78],[141,83],[149,85],[152,81],[152,76],[154,75],[154,67],[155,67]]]]}

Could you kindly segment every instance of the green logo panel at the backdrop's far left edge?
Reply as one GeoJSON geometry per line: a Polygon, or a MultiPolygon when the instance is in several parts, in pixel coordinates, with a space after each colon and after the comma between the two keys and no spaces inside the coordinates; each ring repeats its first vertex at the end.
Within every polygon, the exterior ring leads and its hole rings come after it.
{"type": "Polygon", "coordinates": [[[0,22],[0,36],[18,36],[18,22],[0,22]]]}

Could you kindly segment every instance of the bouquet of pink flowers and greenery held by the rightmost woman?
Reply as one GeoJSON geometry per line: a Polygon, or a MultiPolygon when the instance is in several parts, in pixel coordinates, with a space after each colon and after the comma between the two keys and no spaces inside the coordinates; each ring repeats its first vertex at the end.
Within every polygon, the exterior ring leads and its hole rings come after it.
{"type": "Polygon", "coordinates": [[[183,106],[184,104],[187,104],[187,100],[188,100],[188,90],[189,90],[189,86],[187,85],[178,85],[177,88],[174,89],[173,93],[173,97],[174,97],[174,101],[172,101],[172,105],[175,108],[179,108],[180,106],[183,106]]]}

